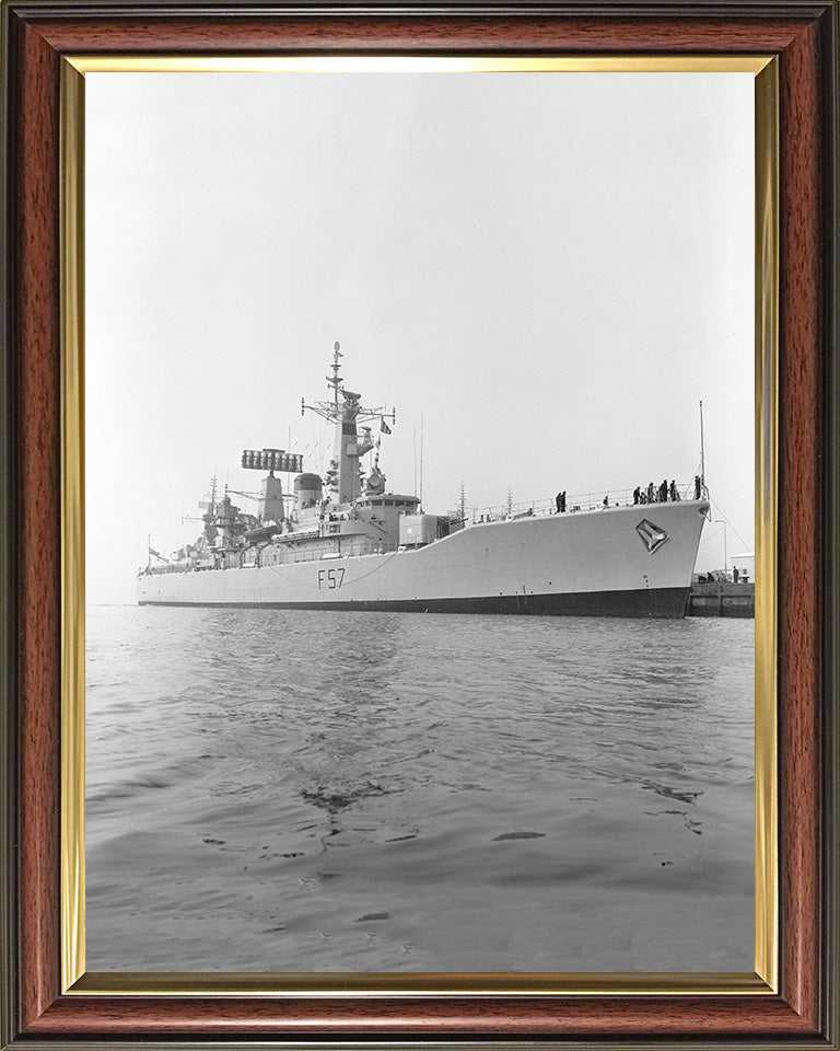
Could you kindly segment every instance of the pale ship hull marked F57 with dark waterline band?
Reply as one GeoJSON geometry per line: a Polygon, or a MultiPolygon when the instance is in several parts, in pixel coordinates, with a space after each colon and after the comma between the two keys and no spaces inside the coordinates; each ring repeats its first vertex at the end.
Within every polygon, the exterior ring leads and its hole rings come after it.
{"type": "Polygon", "coordinates": [[[416,550],[143,573],[138,602],[680,617],[708,511],[705,500],[610,507],[474,524],[416,550]]]}

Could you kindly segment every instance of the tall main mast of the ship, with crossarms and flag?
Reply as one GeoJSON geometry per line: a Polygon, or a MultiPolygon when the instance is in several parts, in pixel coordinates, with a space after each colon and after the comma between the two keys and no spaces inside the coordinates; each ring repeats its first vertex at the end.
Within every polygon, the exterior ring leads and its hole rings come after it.
{"type": "Polygon", "coordinates": [[[330,366],[332,374],[327,377],[327,386],[332,392],[332,400],[307,405],[301,399],[301,415],[308,408],[311,413],[335,425],[334,455],[326,483],[330,498],[337,505],[352,504],[362,495],[361,458],[374,448],[374,441],[371,438],[371,428],[363,428],[360,437],[358,425],[371,419],[383,420],[386,415],[396,421],[396,411],[392,409],[388,413],[382,405],[365,408],[361,402],[361,394],[346,390],[345,381],[339,376],[341,357],[343,355],[340,345],[336,343],[332,347],[330,366]]]}

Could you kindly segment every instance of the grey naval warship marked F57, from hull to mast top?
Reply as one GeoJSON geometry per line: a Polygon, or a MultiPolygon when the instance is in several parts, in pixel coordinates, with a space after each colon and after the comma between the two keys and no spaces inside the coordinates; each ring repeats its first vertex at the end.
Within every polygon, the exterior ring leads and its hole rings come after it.
{"type": "Polygon", "coordinates": [[[329,399],[301,401],[302,414],[335,427],[324,477],[305,472],[299,453],[245,450],[242,466],[264,473],[256,513],[213,482],[196,542],[171,556],[150,547],[141,605],[685,615],[709,515],[704,485],[685,496],[672,486],[662,500],[637,489],[622,503],[567,506],[563,494],[523,513],[510,505],[427,513],[417,495],[387,487],[380,452],[396,414],[345,386],[341,357],[336,344],[329,399]],[[284,493],[279,475],[292,473],[284,493]]]}

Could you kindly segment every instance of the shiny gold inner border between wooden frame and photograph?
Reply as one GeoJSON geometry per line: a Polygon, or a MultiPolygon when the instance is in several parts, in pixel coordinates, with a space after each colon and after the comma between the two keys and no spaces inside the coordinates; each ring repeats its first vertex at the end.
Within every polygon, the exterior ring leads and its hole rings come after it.
{"type": "Polygon", "coordinates": [[[69,995],[767,995],[779,983],[779,70],[774,56],[65,56],[61,261],[61,989],[69,995]],[[756,811],[752,973],[85,972],[84,76],[89,72],[749,72],[755,77],[756,811]]]}

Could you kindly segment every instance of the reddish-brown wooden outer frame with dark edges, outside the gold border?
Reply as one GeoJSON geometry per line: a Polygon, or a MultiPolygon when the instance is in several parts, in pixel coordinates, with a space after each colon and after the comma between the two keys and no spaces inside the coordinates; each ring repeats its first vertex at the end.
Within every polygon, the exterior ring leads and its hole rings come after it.
{"type": "Polygon", "coordinates": [[[2,12],[3,1009],[0,1047],[838,1048],[837,0],[171,3],[2,12]],[[62,53],[774,53],[780,57],[778,996],[61,996],[58,937],[58,68],[62,53]],[[45,559],[44,552],[56,552],[45,559]]]}

